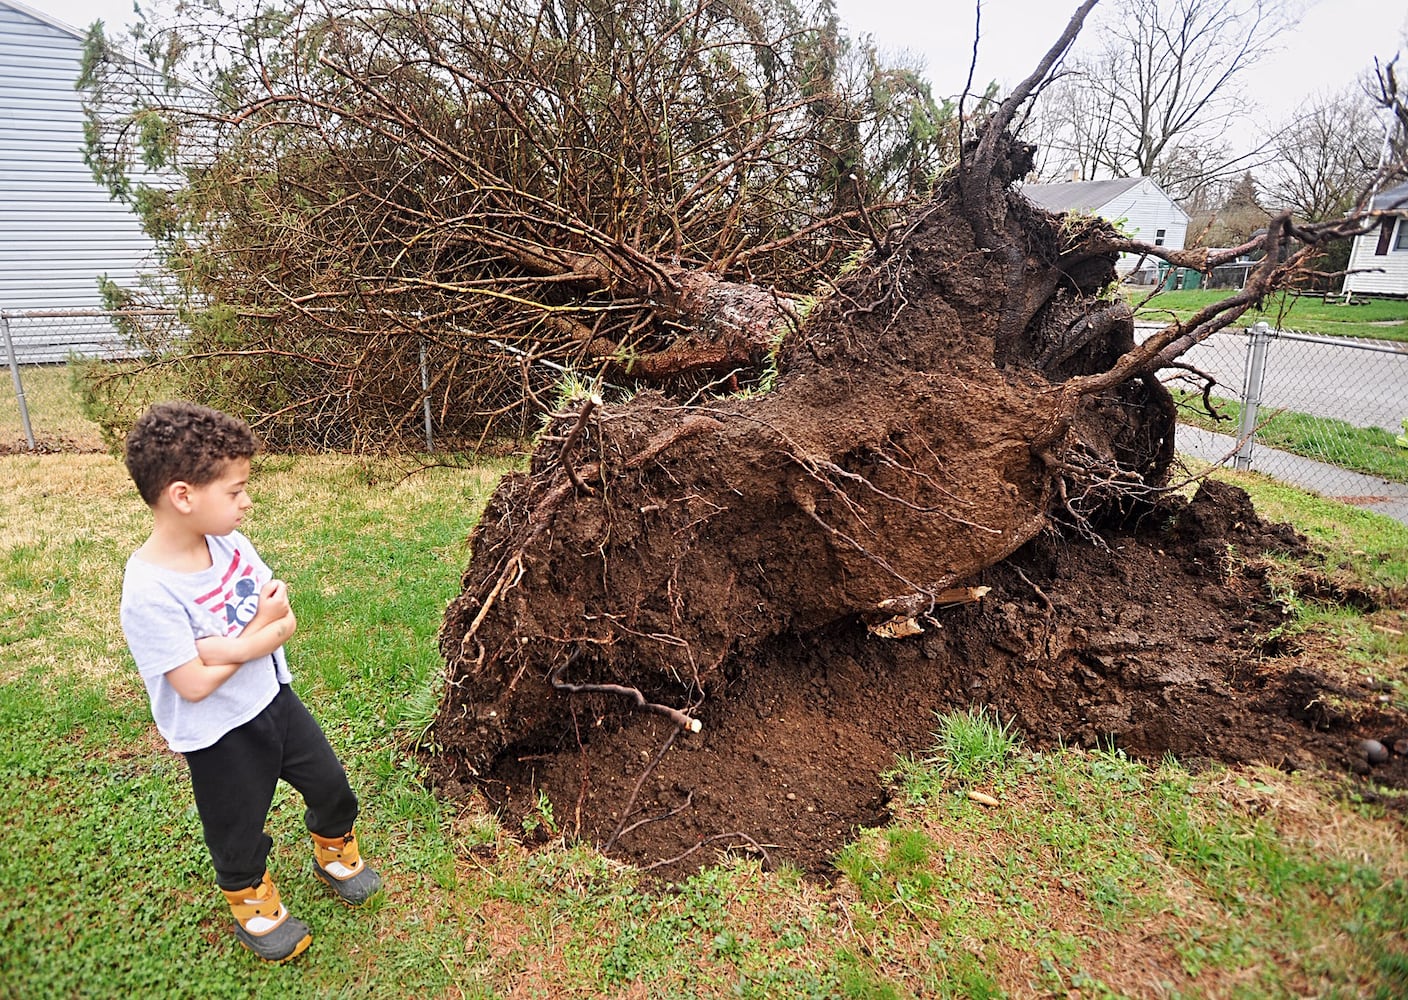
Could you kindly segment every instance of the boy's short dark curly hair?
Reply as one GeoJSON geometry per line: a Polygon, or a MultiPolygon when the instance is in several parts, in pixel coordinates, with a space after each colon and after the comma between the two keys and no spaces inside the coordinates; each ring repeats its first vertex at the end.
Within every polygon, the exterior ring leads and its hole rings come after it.
{"type": "Polygon", "coordinates": [[[148,507],[176,482],[204,486],[231,459],[253,456],[249,424],[199,403],[156,403],[127,434],[124,459],[148,507]]]}

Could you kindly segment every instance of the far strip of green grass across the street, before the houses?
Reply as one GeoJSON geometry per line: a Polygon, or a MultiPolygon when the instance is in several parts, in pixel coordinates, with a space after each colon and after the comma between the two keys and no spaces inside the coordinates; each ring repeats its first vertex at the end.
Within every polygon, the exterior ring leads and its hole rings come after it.
{"type": "MultiPolygon", "coordinates": [[[[1125,287],[1124,293],[1136,306],[1140,321],[1163,323],[1170,317],[1187,320],[1197,310],[1226,299],[1233,290],[1160,292],[1143,306],[1139,303],[1148,297],[1148,290],[1125,287]]],[[[1238,323],[1252,325],[1263,320],[1273,328],[1304,334],[1408,341],[1408,301],[1398,299],[1356,300],[1353,306],[1346,306],[1342,299],[1324,301],[1318,294],[1283,293],[1270,296],[1262,310],[1249,310],[1238,323]]]]}

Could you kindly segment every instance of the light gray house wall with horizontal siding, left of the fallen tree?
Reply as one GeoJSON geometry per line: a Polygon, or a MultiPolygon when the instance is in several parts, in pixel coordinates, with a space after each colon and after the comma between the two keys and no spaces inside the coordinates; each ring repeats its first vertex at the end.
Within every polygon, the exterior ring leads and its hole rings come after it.
{"type": "MultiPolygon", "coordinates": [[[[75,90],[86,32],[0,0],[0,311],[101,308],[100,275],[135,285],[152,242],[83,162],[75,90]]],[[[103,318],[11,318],[21,362],[110,352],[103,318]]],[[[3,349],[3,345],[0,345],[3,349]]]]}

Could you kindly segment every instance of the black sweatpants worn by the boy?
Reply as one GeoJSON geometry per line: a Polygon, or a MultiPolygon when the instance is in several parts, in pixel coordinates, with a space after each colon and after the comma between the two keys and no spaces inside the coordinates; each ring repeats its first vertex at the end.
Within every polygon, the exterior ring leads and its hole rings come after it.
{"type": "Polygon", "coordinates": [[[328,738],[287,685],[269,707],[214,745],[186,754],[196,810],[215,866],[215,885],[258,885],[273,839],[265,820],[282,777],[303,796],[303,820],[320,837],[342,837],[358,803],[328,738]]]}

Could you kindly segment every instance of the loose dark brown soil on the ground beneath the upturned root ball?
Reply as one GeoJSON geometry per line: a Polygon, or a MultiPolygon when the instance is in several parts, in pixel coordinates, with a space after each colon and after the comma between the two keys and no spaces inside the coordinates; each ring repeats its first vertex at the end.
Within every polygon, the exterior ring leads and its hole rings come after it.
{"type": "Polygon", "coordinates": [[[777,637],[725,665],[697,735],[622,699],[562,694],[573,721],[553,738],[511,745],[477,776],[434,758],[434,783],[452,797],[477,786],[539,835],[546,800],[562,832],[672,877],[725,851],[825,876],[857,828],[887,820],[897,758],[932,746],[936,714],[973,706],[1038,749],[1371,770],[1408,787],[1408,756],[1370,765],[1362,749],[1408,737],[1383,692],[1267,648],[1284,623],[1257,562],[1267,551],[1305,544],[1205,482],[1098,544],[1042,534],[969,582],[990,587],[980,603],[922,634],[884,639],[850,620],[777,637]]]}

